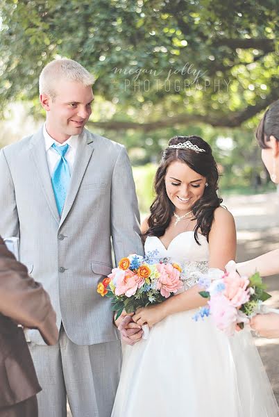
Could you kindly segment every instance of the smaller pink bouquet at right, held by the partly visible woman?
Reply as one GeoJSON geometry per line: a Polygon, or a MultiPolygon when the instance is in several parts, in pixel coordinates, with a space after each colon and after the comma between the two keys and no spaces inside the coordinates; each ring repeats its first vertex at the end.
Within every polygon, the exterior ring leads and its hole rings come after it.
{"type": "Polygon", "coordinates": [[[196,313],[194,320],[210,315],[219,329],[233,335],[235,326],[243,329],[248,318],[259,311],[260,304],[271,295],[264,291],[266,286],[262,284],[258,272],[251,277],[242,277],[237,272],[234,261],[226,265],[226,272],[216,271],[215,279],[203,275],[198,281],[205,288],[205,291],[200,292],[201,296],[209,301],[208,306],[202,307],[196,313]]]}

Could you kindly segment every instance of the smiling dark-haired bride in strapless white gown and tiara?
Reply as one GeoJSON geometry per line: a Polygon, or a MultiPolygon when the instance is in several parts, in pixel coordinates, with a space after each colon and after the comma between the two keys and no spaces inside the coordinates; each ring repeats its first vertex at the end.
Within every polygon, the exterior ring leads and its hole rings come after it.
{"type": "MultiPolygon", "coordinates": [[[[250,332],[226,336],[210,317],[199,272],[235,259],[235,223],[220,206],[211,148],[197,136],[169,141],[155,176],[156,198],[142,233],[145,251],[183,263],[184,291],[139,309],[149,337],[126,345],[112,417],[276,417],[278,407],[250,332]]],[[[131,325],[130,327],[133,327],[131,325]]],[[[135,327],[135,323],[134,323],[135,327]]]]}

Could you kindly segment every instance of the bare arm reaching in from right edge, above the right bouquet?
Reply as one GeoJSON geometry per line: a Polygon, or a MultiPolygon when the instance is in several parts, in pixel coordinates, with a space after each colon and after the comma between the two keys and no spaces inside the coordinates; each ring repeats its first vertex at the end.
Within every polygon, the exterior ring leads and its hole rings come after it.
{"type": "Polygon", "coordinates": [[[279,274],[279,249],[267,252],[246,262],[237,263],[237,271],[240,275],[253,275],[259,272],[262,277],[279,274]]]}

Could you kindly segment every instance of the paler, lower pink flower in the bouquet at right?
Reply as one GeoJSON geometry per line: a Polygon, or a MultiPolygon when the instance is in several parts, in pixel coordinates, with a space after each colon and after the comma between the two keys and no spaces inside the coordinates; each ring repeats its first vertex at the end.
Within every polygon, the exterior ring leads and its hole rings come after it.
{"type": "Polygon", "coordinates": [[[220,330],[233,334],[237,323],[237,309],[223,294],[217,294],[210,298],[210,314],[220,330]]]}

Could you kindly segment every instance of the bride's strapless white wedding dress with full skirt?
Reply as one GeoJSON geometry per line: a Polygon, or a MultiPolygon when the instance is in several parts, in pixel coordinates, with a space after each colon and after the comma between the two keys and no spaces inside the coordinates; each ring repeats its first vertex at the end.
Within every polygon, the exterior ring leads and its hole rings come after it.
{"type": "MultiPolygon", "coordinates": [[[[208,242],[194,232],[179,234],[166,249],[149,236],[145,251],[187,265],[184,289],[208,269],[208,242]]],[[[278,417],[274,398],[251,333],[228,337],[197,310],[158,322],[147,340],[124,347],[112,417],[278,417]]]]}

